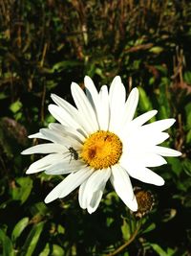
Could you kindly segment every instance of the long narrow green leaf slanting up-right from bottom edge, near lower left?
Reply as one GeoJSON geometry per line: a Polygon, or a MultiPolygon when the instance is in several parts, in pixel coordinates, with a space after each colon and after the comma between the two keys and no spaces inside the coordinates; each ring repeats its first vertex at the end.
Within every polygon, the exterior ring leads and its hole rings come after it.
{"type": "Polygon", "coordinates": [[[31,256],[37,243],[39,242],[40,234],[43,230],[45,222],[41,221],[35,225],[32,226],[32,230],[30,234],[27,237],[27,240],[23,246],[23,251],[21,253],[21,256],[31,256]]]}

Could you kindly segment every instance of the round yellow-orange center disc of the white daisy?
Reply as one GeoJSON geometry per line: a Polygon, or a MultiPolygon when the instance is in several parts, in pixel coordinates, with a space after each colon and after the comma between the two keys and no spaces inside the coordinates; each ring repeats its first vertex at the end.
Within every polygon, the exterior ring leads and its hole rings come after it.
{"type": "Polygon", "coordinates": [[[117,135],[98,130],[86,139],[81,157],[90,167],[98,170],[117,164],[121,153],[122,143],[117,135]]]}

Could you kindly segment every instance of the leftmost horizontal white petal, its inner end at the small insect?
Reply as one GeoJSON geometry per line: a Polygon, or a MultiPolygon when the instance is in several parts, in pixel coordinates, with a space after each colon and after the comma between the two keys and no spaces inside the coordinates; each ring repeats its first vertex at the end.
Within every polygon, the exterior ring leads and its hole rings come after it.
{"type": "Polygon", "coordinates": [[[51,152],[63,152],[66,151],[66,147],[55,144],[55,143],[45,143],[32,146],[31,148],[22,151],[22,154],[31,154],[31,153],[51,153],[51,152]]]}

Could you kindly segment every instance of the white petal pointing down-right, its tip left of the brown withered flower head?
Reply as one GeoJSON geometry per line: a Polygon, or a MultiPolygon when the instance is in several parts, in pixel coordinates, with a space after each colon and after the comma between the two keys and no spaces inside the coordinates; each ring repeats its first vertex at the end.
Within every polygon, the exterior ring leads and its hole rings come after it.
{"type": "Polygon", "coordinates": [[[134,196],[131,180],[127,172],[119,165],[113,166],[111,182],[121,200],[132,210],[138,210],[138,203],[134,196]]]}

